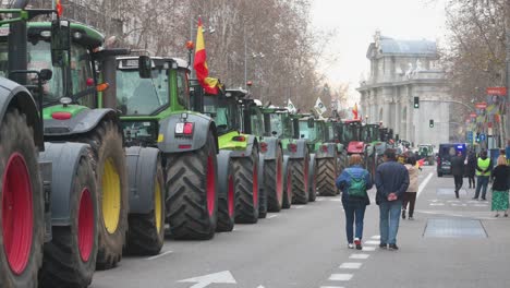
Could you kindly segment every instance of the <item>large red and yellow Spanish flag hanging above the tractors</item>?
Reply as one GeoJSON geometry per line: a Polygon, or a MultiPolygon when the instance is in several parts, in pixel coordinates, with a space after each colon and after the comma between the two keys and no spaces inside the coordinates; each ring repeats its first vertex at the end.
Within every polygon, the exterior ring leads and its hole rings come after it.
{"type": "Polygon", "coordinates": [[[209,69],[207,68],[207,53],[205,50],[204,32],[202,27],[202,19],[198,19],[198,29],[196,31],[196,48],[195,61],[193,68],[196,71],[196,79],[201,83],[207,94],[218,94],[218,79],[209,77],[209,69]]]}

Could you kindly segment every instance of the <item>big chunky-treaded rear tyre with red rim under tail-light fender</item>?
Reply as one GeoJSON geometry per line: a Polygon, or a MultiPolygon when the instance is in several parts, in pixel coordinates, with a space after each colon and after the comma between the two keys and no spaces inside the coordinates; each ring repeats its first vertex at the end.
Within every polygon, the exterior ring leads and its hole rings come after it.
{"type": "Polygon", "coordinates": [[[198,151],[167,157],[167,223],[175,239],[207,240],[215,236],[218,212],[216,141],[209,132],[198,151]]]}

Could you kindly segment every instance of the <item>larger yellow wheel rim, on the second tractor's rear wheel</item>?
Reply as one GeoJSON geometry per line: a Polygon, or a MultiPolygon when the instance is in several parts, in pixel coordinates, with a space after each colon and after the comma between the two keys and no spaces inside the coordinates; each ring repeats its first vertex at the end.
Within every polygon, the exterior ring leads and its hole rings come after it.
{"type": "Polygon", "coordinates": [[[120,209],[120,177],[113,165],[113,159],[108,158],[102,175],[102,219],[109,233],[114,233],[119,226],[120,209]]]}

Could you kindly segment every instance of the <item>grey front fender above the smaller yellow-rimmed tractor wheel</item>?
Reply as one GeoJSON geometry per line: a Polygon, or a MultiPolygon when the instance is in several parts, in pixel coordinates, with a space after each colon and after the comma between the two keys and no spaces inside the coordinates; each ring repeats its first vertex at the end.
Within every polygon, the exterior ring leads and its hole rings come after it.
{"type": "MultiPolygon", "coordinates": [[[[154,209],[159,149],[132,146],[125,151],[130,187],[130,214],[147,214],[154,209]]],[[[162,188],[161,188],[162,189],[162,188]]]]}

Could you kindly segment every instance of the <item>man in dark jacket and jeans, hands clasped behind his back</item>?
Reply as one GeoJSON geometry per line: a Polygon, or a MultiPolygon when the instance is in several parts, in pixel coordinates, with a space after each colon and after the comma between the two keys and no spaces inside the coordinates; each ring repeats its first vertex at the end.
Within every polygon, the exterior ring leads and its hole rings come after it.
{"type": "Polygon", "coordinates": [[[385,163],[377,167],[375,178],[376,204],[379,205],[379,247],[386,249],[388,245],[390,250],[398,250],[397,232],[403,193],[409,187],[409,172],[402,164],[397,163],[394,149],[386,149],[382,157],[385,163]]]}

